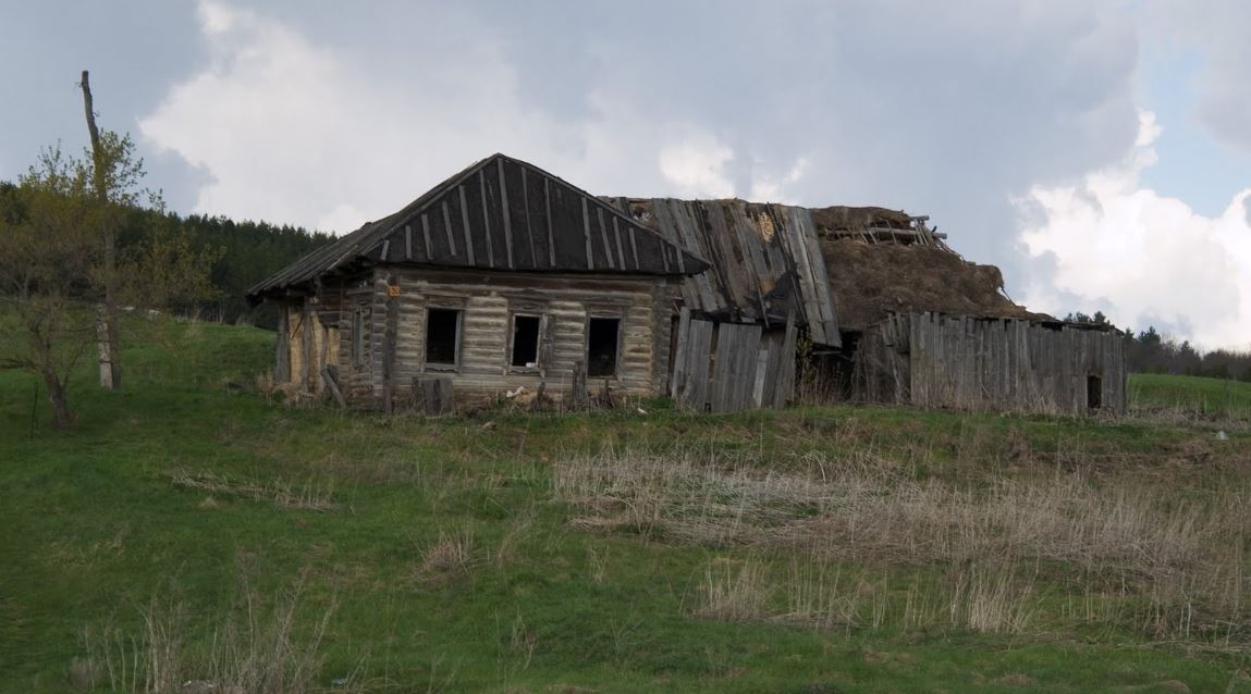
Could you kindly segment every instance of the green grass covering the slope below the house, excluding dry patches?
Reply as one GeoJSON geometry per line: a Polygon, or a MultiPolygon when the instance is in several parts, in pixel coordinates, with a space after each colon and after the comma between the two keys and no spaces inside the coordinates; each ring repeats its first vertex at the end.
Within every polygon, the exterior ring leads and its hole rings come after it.
{"type": "MultiPolygon", "coordinates": [[[[552,465],[579,451],[681,446],[781,470],[858,453],[952,484],[1023,459],[1182,469],[1183,486],[1201,490],[1243,479],[1251,439],[1241,434],[1212,441],[1180,426],[903,408],[696,415],[663,401],[642,403],[647,414],[348,415],[255,394],[271,355],[261,330],[165,324],[130,343],[123,391],[93,388],[85,369],[76,378],[69,433],[49,429],[30,376],[0,373],[3,691],[75,690],[84,630],[139,636],[154,596],[186,606],[194,655],[243,614],[249,591],[275,599],[298,581],[296,638],[310,639],[334,606],[318,673],[330,690],[357,673],[379,691],[1172,691],[1171,680],[1226,691],[1251,666],[1241,641],[1160,643],[1050,613],[1013,635],[708,619],[698,608],[711,563],[784,560],[578,530],[552,481],[552,465]],[[188,478],[268,491],[176,484],[188,478]],[[285,504],[281,489],[311,489],[334,508],[285,504]],[[468,538],[464,568],[429,565],[448,536],[468,538]]],[[[1191,388],[1157,376],[1135,385],[1191,388]]],[[[891,570],[904,581],[931,569],[891,570]]],[[[1045,601],[1066,590],[1056,578],[1045,601]]],[[[1251,691],[1241,686],[1232,690],[1251,691]]]]}

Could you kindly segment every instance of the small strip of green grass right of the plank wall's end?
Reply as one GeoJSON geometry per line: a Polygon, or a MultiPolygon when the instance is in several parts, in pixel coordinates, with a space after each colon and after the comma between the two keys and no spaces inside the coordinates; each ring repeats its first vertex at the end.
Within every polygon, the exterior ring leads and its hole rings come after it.
{"type": "Polygon", "coordinates": [[[1140,409],[1251,418],[1251,383],[1202,376],[1132,374],[1130,401],[1140,409]]]}

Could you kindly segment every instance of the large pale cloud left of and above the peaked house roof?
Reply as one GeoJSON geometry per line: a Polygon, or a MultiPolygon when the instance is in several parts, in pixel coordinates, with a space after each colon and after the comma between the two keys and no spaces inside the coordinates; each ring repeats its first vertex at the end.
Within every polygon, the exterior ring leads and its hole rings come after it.
{"type": "Polygon", "coordinates": [[[198,211],[347,231],[495,150],[550,149],[489,43],[455,65],[414,48],[415,79],[394,85],[251,11],[203,3],[200,21],[210,64],[140,123],[211,175],[198,211]]]}

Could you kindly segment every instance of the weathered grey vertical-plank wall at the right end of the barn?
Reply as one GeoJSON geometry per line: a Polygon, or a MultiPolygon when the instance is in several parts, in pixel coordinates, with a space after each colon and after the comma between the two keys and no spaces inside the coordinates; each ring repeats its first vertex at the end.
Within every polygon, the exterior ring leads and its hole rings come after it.
{"type": "Polygon", "coordinates": [[[927,408],[1123,415],[1125,343],[1061,323],[896,314],[856,354],[857,399],[927,408]]]}

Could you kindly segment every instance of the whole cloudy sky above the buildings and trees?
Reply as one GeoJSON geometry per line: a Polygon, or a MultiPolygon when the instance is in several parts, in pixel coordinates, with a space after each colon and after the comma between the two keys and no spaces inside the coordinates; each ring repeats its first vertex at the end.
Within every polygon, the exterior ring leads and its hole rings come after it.
{"type": "Polygon", "coordinates": [[[1251,3],[0,5],[0,179],[131,133],[178,211],[349,231],[494,151],[929,214],[1037,310],[1251,346],[1251,3]]]}

